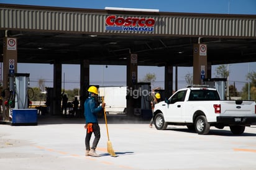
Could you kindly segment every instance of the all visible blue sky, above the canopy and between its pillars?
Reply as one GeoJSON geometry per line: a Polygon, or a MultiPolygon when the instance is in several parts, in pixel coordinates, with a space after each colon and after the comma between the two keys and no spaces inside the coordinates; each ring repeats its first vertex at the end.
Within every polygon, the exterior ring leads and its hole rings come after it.
{"type": "MultiPolygon", "coordinates": [[[[208,14],[253,14],[256,15],[255,0],[158,0],[158,1],[112,1],[112,0],[0,0],[6,4],[25,4],[34,6],[57,6],[89,9],[104,9],[104,7],[127,7],[142,9],[159,9],[160,12],[193,12],[208,14]]],[[[18,64],[18,73],[30,73],[30,86],[37,86],[38,79],[45,79],[46,86],[52,87],[52,65],[28,65],[18,64]]],[[[215,77],[215,69],[212,66],[212,77],[215,77]]],[[[79,88],[80,66],[63,65],[65,74],[65,89],[79,88]]],[[[256,71],[256,63],[240,63],[229,65],[230,83],[235,81],[238,90],[247,82],[245,76],[250,71],[256,71]]],[[[147,73],[155,73],[157,80],[152,87],[163,87],[163,67],[139,66],[138,79],[143,79],[147,73]]],[[[178,88],[185,87],[185,74],[193,73],[193,68],[178,68],[178,88]]],[[[90,66],[90,83],[104,86],[126,85],[126,66],[90,66]]],[[[62,87],[64,86],[64,83],[62,87]]],[[[175,87],[175,86],[173,86],[175,87]]]]}

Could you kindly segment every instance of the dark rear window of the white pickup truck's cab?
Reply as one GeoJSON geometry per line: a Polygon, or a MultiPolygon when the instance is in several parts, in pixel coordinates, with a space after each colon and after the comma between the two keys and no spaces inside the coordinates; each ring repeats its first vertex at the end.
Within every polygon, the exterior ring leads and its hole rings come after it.
{"type": "Polygon", "coordinates": [[[217,91],[211,90],[192,90],[188,101],[220,101],[217,91]]]}

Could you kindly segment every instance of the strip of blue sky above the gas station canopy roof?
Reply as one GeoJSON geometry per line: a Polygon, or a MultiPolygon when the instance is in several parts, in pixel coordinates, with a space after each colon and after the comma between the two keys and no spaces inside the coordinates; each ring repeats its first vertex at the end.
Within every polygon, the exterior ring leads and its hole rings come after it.
{"type": "Polygon", "coordinates": [[[256,14],[255,0],[0,0],[1,3],[27,4],[38,6],[58,6],[104,9],[104,7],[130,7],[159,9],[161,12],[198,12],[214,14],[256,14]]]}

